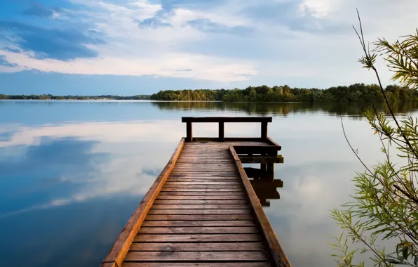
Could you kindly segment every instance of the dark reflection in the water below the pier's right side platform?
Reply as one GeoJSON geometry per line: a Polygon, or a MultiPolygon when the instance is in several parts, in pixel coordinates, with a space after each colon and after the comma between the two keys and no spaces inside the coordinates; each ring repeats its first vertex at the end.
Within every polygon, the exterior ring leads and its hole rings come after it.
{"type": "Polygon", "coordinates": [[[263,207],[270,207],[269,200],[280,199],[277,188],[283,188],[283,181],[274,179],[274,172],[256,168],[244,169],[248,178],[252,178],[250,183],[263,207]]]}

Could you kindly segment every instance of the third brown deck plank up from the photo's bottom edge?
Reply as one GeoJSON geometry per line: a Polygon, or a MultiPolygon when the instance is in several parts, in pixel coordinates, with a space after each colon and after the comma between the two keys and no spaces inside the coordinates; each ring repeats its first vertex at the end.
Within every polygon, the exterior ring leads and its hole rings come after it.
{"type": "Polygon", "coordinates": [[[231,243],[133,243],[130,251],[137,252],[250,252],[262,251],[262,242],[231,243]]]}

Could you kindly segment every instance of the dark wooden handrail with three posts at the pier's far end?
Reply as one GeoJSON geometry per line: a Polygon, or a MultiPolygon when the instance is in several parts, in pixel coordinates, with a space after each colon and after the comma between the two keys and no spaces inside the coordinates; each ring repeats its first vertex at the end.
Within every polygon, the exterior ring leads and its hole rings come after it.
{"type": "Polygon", "coordinates": [[[273,122],[272,117],[182,117],[182,122],[186,122],[186,142],[193,141],[194,122],[217,122],[219,124],[218,140],[224,141],[225,122],[259,122],[261,123],[261,138],[267,139],[267,124],[273,122]]]}

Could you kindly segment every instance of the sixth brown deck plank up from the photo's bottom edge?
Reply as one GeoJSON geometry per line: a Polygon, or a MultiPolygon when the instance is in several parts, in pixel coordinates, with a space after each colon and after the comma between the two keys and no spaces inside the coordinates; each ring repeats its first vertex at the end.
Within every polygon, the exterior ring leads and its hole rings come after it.
{"type": "Polygon", "coordinates": [[[144,221],[144,227],[255,226],[254,221],[144,221]]]}

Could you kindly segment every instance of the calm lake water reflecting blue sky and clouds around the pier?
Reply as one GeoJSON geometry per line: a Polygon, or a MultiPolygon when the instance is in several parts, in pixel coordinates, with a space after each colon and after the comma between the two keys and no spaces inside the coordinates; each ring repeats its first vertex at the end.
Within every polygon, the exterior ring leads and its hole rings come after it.
{"type": "MultiPolygon", "coordinates": [[[[398,112],[415,112],[399,105],[398,112]]],[[[1,266],[99,266],[185,135],[182,116],[272,116],[283,146],[280,200],[265,207],[293,266],[335,266],[330,209],[349,200],[379,141],[352,105],[0,101],[1,266]]],[[[195,136],[216,136],[196,124],[195,136]]],[[[259,136],[258,124],[226,124],[226,136],[259,136]]]]}

